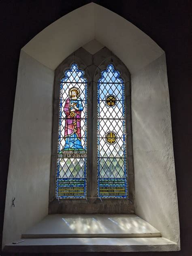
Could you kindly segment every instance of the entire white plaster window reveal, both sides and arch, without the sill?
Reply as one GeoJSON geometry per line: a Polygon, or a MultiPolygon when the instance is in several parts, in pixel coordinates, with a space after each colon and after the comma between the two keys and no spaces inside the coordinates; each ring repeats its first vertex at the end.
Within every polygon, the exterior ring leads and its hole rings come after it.
{"type": "MultiPolygon", "coordinates": [[[[90,47],[90,44],[86,44],[94,39],[113,51],[132,74],[136,213],[165,238],[177,243],[179,248],[179,216],[164,51],[133,24],[94,3],[58,19],[21,50],[3,245],[19,239],[26,229],[47,215],[53,70],[79,47],[90,47]],[[11,206],[13,196],[16,197],[15,207],[11,206]]],[[[93,46],[90,47],[90,50],[93,49],[93,46]]]]}

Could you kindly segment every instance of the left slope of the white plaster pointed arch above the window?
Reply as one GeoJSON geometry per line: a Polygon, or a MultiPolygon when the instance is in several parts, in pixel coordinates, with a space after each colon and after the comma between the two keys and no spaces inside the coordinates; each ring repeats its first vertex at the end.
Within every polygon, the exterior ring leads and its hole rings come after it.
{"type": "Polygon", "coordinates": [[[86,4],[51,23],[22,49],[48,68],[94,39],[94,4],[86,4]]]}

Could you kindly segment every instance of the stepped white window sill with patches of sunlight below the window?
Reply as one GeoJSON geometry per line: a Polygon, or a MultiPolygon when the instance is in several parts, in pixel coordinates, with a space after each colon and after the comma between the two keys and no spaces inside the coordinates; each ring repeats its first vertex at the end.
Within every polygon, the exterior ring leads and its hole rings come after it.
{"type": "Polygon", "coordinates": [[[9,243],[4,252],[177,251],[176,243],[134,214],[56,214],[9,243]]]}

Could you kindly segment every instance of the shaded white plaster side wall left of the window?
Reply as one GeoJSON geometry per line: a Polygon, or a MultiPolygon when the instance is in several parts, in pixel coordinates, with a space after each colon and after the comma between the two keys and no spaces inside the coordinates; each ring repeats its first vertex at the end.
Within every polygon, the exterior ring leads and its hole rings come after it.
{"type": "Polygon", "coordinates": [[[48,214],[54,72],[21,51],[3,246],[48,214]],[[15,207],[12,199],[15,197],[15,207]]]}

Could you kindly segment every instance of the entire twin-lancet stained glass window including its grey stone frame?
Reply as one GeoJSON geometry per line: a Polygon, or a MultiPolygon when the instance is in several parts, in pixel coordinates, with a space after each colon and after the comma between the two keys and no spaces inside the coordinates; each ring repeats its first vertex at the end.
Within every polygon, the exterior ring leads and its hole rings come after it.
{"type": "Polygon", "coordinates": [[[132,158],[128,69],[79,48],[55,70],[49,213],[134,213],[132,158]]]}

